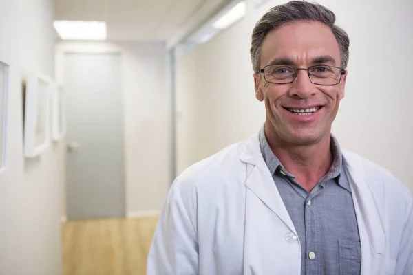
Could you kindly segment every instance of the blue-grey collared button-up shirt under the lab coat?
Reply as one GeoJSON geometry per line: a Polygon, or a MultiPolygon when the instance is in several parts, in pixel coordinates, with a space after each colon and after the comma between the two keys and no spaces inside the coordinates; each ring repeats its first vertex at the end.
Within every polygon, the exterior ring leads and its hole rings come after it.
{"type": "MultiPolygon", "coordinates": [[[[332,166],[311,192],[295,181],[295,176],[274,155],[264,126],[260,131],[260,148],[301,243],[301,275],[360,274],[357,217],[335,137],[331,137],[332,166]]],[[[297,236],[290,236],[286,241],[296,239],[297,236]]]]}

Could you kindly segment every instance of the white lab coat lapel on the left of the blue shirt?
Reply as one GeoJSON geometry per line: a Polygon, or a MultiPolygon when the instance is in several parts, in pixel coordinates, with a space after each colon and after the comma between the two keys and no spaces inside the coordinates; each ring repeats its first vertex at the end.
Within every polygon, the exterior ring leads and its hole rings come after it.
{"type": "MultiPolygon", "coordinates": [[[[240,159],[246,162],[246,188],[251,190],[268,208],[281,219],[288,228],[297,235],[293,221],[279,195],[273,177],[264,162],[260,150],[258,135],[254,135],[244,143],[240,159]]],[[[246,201],[248,207],[248,201],[246,201]]]]}

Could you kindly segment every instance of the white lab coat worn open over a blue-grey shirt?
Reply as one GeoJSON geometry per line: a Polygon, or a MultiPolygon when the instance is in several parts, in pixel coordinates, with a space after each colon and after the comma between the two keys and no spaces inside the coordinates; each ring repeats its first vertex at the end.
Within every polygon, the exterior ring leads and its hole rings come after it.
{"type": "MultiPolygon", "coordinates": [[[[409,190],[354,153],[343,151],[343,165],[359,225],[361,275],[413,275],[409,190]]],[[[286,238],[292,233],[297,236],[254,135],[177,177],[153,236],[147,274],[299,275],[301,246],[286,238]]]]}

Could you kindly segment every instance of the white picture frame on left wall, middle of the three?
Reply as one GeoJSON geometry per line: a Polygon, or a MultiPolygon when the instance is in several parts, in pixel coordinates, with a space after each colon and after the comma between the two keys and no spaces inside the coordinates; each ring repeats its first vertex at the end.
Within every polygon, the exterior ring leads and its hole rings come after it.
{"type": "Polygon", "coordinates": [[[47,76],[30,74],[25,82],[24,155],[39,156],[50,145],[50,89],[47,76]]]}

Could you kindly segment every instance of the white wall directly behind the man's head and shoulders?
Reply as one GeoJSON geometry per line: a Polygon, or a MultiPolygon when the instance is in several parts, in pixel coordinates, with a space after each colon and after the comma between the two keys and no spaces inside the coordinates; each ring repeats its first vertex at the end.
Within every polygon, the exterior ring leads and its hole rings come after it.
{"type": "MultiPolygon", "coordinates": [[[[333,126],[341,146],[367,157],[413,190],[413,1],[317,1],[350,36],[346,98],[333,126]]],[[[255,22],[274,5],[255,9],[209,43],[177,61],[178,173],[198,159],[257,133],[257,102],[249,48],[255,22]]]]}

